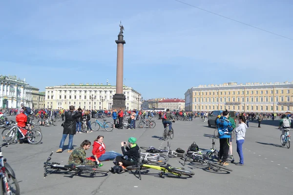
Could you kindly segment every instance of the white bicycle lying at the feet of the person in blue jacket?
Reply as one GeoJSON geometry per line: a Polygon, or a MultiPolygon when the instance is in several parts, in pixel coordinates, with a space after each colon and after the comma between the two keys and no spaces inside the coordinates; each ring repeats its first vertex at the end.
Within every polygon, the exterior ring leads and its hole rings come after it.
{"type": "Polygon", "coordinates": [[[198,151],[198,152],[193,152],[190,151],[190,146],[188,147],[188,150],[183,153],[183,159],[184,159],[184,164],[185,166],[186,161],[193,161],[193,162],[199,162],[201,164],[206,164],[208,167],[206,169],[210,170],[212,169],[213,171],[218,172],[220,169],[224,169],[226,171],[232,171],[230,168],[220,165],[217,162],[212,162],[209,160],[209,158],[213,158],[217,156],[218,151],[214,149],[215,142],[212,139],[212,148],[210,150],[204,150],[204,151],[198,151]]]}

